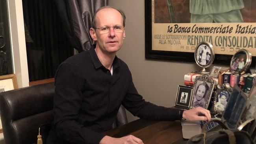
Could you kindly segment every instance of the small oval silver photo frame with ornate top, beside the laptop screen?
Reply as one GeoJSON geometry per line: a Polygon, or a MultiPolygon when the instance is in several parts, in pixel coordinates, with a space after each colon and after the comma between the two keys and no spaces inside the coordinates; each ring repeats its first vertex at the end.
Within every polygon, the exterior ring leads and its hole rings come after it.
{"type": "Polygon", "coordinates": [[[232,90],[233,89],[232,87],[230,87],[229,83],[223,83],[223,85],[217,85],[214,102],[213,102],[214,103],[213,113],[217,113],[220,115],[223,114],[232,90]]]}

